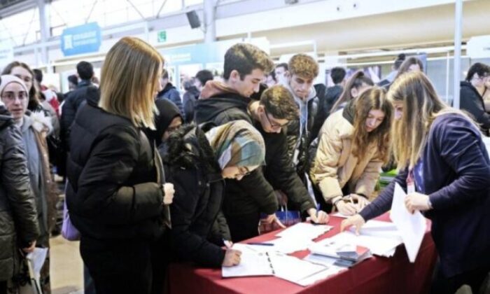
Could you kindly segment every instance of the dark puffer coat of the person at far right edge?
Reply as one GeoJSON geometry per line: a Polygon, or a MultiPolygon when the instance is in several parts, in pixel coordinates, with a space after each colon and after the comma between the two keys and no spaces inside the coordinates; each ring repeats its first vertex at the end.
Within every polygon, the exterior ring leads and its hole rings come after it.
{"type": "Polygon", "coordinates": [[[479,123],[482,131],[488,135],[490,129],[490,113],[485,111],[482,95],[470,82],[462,81],[460,90],[460,109],[471,113],[479,123]]]}

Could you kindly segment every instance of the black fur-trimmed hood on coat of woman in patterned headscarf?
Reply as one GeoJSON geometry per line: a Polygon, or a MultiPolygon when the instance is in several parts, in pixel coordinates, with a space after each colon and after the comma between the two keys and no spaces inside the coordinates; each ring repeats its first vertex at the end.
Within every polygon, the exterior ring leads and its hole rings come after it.
{"type": "Polygon", "coordinates": [[[201,166],[207,174],[221,174],[221,168],[204,132],[194,124],[183,125],[158,147],[165,164],[186,169],[201,166]]]}

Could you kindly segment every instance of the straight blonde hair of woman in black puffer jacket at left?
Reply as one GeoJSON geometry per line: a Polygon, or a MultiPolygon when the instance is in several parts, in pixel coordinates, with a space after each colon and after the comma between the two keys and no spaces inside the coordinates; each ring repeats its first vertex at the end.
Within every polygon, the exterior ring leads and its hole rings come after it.
{"type": "Polygon", "coordinates": [[[124,37],[113,45],[102,66],[99,106],[129,118],[135,126],[155,130],[154,93],[164,59],[139,38],[124,37]]]}

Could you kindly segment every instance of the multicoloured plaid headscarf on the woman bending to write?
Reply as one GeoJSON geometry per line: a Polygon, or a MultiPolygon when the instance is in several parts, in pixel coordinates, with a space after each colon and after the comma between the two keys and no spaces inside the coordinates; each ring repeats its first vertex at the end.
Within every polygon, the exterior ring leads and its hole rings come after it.
{"type": "Polygon", "coordinates": [[[262,165],[265,160],[264,139],[245,120],[214,127],[206,133],[206,137],[221,169],[262,165]]]}

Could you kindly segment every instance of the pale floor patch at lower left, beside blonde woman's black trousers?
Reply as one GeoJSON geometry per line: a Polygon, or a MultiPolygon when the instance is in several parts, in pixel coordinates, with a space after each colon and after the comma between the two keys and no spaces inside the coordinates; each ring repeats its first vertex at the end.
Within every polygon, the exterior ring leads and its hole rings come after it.
{"type": "Polygon", "coordinates": [[[83,262],[78,241],[50,239],[52,294],[83,294],[83,262]]]}

